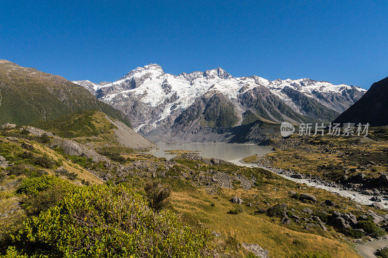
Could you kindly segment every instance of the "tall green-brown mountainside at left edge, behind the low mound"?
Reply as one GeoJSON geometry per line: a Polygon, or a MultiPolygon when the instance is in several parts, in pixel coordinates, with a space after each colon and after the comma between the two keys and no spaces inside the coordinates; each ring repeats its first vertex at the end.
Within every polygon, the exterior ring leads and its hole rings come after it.
{"type": "Polygon", "coordinates": [[[0,124],[27,125],[96,109],[130,126],[126,116],[65,78],[0,60],[0,124]]]}

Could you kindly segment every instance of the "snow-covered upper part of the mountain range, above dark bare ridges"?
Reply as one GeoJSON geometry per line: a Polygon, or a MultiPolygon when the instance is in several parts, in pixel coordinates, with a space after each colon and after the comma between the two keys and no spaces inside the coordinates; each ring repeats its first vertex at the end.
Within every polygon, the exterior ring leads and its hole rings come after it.
{"type": "MultiPolygon", "coordinates": [[[[366,92],[353,85],[334,85],[308,78],[274,81],[255,75],[235,78],[220,67],[204,72],[173,75],[165,73],[159,64],[137,67],[111,83],[74,82],[87,88],[97,98],[127,113],[134,128],[142,133],[171,125],[174,119],[197,99],[215,93],[224,95],[233,103],[240,117],[247,110],[260,109],[260,112],[268,113],[267,107],[247,105],[264,96],[273,103],[277,100],[271,96],[277,96],[279,101],[283,101],[293,112],[304,116],[313,115],[314,119],[328,120],[329,117],[322,114],[330,113],[330,117],[338,115],[366,92]],[[242,99],[246,97],[253,97],[250,103],[245,103],[242,99]],[[310,107],[304,107],[304,103],[309,103],[310,107]],[[316,110],[317,105],[321,110],[328,111],[310,114],[311,110],[316,110]]],[[[269,115],[270,119],[278,122],[277,118],[271,117],[273,116],[269,115]]]]}

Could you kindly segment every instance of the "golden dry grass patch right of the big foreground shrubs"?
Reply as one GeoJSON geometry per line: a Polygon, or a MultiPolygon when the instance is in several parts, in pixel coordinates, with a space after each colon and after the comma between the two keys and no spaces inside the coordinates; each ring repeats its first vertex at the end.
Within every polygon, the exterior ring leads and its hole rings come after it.
{"type": "MultiPolygon", "coordinates": [[[[206,194],[204,190],[173,193],[172,204],[179,212],[196,217],[210,231],[235,237],[239,242],[258,243],[270,251],[270,257],[287,257],[296,252],[320,252],[335,257],[358,258],[350,246],[342,241],[334,231],[324,232],[324,236],[294,230],[279,219],[273,221],[265,214],[255,215],[253,209],[241,207],[244,211],[237,215],[227,211],[236,208],[228,199],[230,196],[259,194],[258,190],[224,189],[217,196],[206,194]],[[214,206],[210,205],[211,203],[214,206]]],[[[281,197],[281,196],[280,196],[281,197]]],[[[243,197],[244,198],[244,197],[243,197]]]]}

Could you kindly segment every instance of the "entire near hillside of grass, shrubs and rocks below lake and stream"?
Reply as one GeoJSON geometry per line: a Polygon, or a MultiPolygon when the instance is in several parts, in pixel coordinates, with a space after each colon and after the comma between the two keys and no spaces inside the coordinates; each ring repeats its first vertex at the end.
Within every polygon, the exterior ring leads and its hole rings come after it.
{"type": "MultiPolygon", "coordinates": [[[[86,121],[90,123],[81,123],[85,128],[93,127],[93,120],[86,121]]],[[[334,211],[351,212],[360,225],[369,225],[368,210],[384,213],[265,169],[198,158],[187,151],[171,161],[112,152],[106,153],[109,159],[93,161],[66,155],[56,143],[54,137],[33,136],[23,128],[0,129],[0,156],[14,163],[0,168],[0,247],[3,253],[8,248],[8,257],[66,257],[67,252],[253,257],[242,247],[245,242],[259,244],[275,258],[356,258],[351,240],[359,232],[322,227],[316,220],[326,223],[334,211]],[[314,195],[316,201],[295,197],[300,194],[314,195]],[[234,196],[243,203],[231,203],[234,196]],[[323,205],[325,200],[336,206],[323,205]],[[287,210],[273,210],[279,204],[287,210]],[[288,223],[282,222],[283,212],[288,223]]]]}

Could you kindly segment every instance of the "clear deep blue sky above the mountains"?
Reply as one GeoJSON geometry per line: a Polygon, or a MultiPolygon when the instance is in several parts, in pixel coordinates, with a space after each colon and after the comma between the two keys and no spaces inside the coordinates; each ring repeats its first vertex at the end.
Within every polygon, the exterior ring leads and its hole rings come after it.
{"type": "Polygon", "coordinates": [[[388,76],[388,1],[0,1],[0,59],[69,80],[137,66],[311,78],[388,76]]]}

